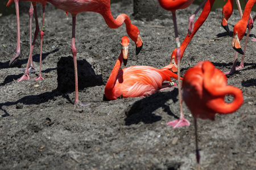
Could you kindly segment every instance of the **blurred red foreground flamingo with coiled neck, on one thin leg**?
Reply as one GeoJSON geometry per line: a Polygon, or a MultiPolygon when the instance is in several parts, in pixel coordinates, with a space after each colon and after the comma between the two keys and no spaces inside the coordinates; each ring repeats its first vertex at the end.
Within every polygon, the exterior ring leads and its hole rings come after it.
{"type": "Polygon", "coordinates": [[[196,158],[200,169],[200,154],[197,142],[197,118],[214,120],[215,114],[228,114],[243,104],[242,91],[227,85],[227,78],[209,61],[200,61],[187,70],[182,82],[183,100],[195,121],[196,158]],[[232,103],[225,103],[224,97],[232,95],[232,103]]]}

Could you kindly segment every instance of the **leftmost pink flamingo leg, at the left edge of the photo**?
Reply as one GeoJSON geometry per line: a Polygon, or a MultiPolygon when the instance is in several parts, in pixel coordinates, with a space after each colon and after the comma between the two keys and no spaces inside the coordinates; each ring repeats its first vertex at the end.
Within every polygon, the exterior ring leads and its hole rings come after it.
{"type": "Polygon", "coordinates": [[[13,58],[9,62],[10,66],[13,66],[14,63],[17,61],[20,55],[20,31],[19,31],[19,0],[14,0],[15,2],[15,9],[16,9],[16,22],[17,22],[17,47],[16,51],[14,52],[13,58]]]}

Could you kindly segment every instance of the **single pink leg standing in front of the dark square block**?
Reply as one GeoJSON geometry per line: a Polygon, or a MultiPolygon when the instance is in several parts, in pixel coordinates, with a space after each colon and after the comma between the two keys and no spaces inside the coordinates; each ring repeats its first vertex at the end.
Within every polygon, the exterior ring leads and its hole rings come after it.
{"type": "Polygon", "coordinates": [[[77,75],[77,50],[76,50],[76,40],[75,40],[75,31],[76,31],[76,15],[72,16],[72,43],[71,49],[73,53],[73,61],[74,61],[74,68],[75,68],[75,106],[86,106],[89,104],[84,104],[79,102],[79,95],[78,95],[78,75],[77,75]]]}

